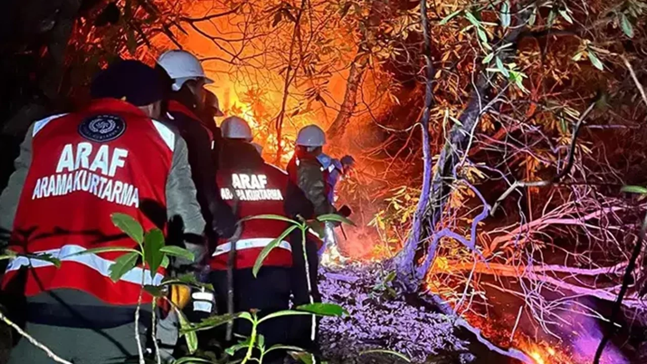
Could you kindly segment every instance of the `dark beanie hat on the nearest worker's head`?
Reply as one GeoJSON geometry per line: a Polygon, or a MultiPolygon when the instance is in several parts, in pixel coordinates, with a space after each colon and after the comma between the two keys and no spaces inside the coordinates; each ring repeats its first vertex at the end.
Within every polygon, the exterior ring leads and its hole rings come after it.
{"type": "Polygon", "coordinates": [[[113,63],[94,78],[90,86],[92,98],[123,98],[135,106],[162,100],[167,85],[158,71],[148,65],[125,60],[113,63]]]}

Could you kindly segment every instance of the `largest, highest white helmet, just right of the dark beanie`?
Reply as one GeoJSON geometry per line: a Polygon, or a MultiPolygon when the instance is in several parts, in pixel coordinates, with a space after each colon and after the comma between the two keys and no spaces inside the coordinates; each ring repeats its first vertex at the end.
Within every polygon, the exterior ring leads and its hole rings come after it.
{"type": "Polygon", "coordinates": [[[200,61],[193,54],[186,51],[166,51],[157,58],[159,64],[173,79],[173,91],[180,91],[184,82],[204,78],[204,83],[213,84],[214,81],[204,74],[200,61]]]}

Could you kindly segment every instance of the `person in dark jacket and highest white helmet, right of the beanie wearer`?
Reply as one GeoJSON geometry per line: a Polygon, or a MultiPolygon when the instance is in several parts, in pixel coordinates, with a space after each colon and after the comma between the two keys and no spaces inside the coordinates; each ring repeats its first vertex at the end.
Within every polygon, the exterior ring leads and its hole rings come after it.
{"type": "MultiPolygon", "coordinates": [[[[236,230],[236,220],[230,207],[220,198],[215,184],[217,155],[214,151],[216,137],[213,128],[205,124],[205,84],[213,81],[206,77],[200,61],[186,51],[167,51],[157,60],[171,79],[168,101],[168,122],[173,124],[186,140],[193,182],[197,198],[207,223],[206,234],[210,242],[217,236],[228,238],[236,230]]],[[[214,95],[215,96],[215,95],[214,95]]],[[[215,124],[213,125],[215,126],[215,124]]]]}

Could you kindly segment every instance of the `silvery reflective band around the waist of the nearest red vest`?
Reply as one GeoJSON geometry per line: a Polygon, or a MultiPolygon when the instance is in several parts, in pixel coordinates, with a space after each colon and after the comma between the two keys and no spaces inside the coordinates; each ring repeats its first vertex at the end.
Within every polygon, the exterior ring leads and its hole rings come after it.
{"type": "MultiPolygon", "coordinates": [[[[90,267],[103,275],[104,277],[110,277],[110,266],[114,263],[112,260],[102,258],[93,253],[85,253],[80,255],[73,255],[76,253],[81,253],[85,251],[84,247],[80,245],[63,245],[61,249],[50,249],[45,251],[39,251],[33,254],[49,254],[52,258],[57,258],[63,262],[76,262],[83,264],[84,266],[90,267]]],[[[54,266],[54,263],[48,262],[47,260],[40,260],[38,258],[27,258],[27,256],[18,256],[12,260],[9,265],[6,267],[6,271],[16,271],[22,266],[30,266],[34,268],[39,267],[49,267],[54,266]]],[[[155,274],[155,278],[151,280],[150,271],[148,269],[142,269],[141,267],[134,267],[124,274],[120,281],[129,282],[133,284],[140,285],[142,284],[142,274],[144,274],[144,284],[154,284],[159,285],[164,278],[164,275],[160,273],[155,274]]]]}

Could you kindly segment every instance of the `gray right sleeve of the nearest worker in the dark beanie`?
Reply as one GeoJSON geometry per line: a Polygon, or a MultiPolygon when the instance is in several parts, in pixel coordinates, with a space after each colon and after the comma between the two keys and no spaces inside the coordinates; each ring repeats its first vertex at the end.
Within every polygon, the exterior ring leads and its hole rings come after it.
{"type": "MultiPolygon", "coordinates": [[[[170,222],[169,235],[181,234],[184,247],[195,254],[195,262],[201,262],[204,253],[206,253],[203,239],[204,218],[195,196],[196,190],[191,179],[186,142],[176,133],[173,161],[166,180],[166,213],[170,222]],[[173,233],[173,230],[176,233],[173,233]]],[[[178,263],[182,266],[188,262],[178,263]]]]}

